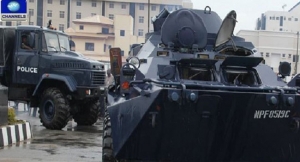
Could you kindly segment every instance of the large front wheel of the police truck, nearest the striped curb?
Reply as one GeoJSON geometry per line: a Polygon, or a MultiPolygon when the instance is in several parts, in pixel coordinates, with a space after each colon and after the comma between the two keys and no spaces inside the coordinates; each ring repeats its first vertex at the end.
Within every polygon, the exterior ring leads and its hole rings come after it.
{"type": "Polygon", "coordinates": [[[70,106],[59,89],[48,88],[42,95],[39,114],[44,127],[61,130],[68,124],[70,106]]]}

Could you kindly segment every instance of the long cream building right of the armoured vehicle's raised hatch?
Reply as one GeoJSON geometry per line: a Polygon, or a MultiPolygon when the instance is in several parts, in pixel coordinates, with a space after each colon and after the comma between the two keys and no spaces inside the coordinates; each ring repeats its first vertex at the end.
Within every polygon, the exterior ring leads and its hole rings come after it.
{"type": "MultiPolygon", "coordinates": [[[[264,57],[265,63],[273,67],[275,72],[278,72],[280,62],[287,61],[291,63],[291,72],[294,74],[299,35],[294,32],[241,30],[237,36],[252,42],[258,50],[258,56],[264,57]]],[[[299,66],[298,63],[298,73],[300,72],[299,66]]]]}

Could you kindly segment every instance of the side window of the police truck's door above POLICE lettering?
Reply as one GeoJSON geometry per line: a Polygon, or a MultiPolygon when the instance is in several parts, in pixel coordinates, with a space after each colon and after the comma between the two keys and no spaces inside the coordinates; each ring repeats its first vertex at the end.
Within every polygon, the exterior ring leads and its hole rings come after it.
{"type": "Polygon", "coordinates": [[[38,35],[34,32],[30,31],[23,31],[21,34],[21,42],[20,42],[20,48],[23,50],[32,50],[36,48],[36,42],[34,41],[35,37],[38,35]]]}

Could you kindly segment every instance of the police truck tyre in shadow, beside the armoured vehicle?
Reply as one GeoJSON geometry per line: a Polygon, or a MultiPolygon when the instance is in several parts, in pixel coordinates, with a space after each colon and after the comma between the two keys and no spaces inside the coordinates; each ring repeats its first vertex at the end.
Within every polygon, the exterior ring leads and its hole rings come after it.
{"type": "Polygon", "coordinates": [[[74,114],[73,119],[77,125],[93,125],[97,122],[100,113],[100,102],[94,100],[81,105],[80,111],[74,114]]]}

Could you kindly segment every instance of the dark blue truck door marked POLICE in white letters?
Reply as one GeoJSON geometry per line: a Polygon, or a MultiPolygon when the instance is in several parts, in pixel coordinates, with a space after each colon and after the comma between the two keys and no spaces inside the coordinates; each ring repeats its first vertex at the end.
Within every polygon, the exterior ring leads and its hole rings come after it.
{"type": "Polygon", "coordinates": [[[37,84],[39,81],[38,31],[17,31],[15,78],[19,84],[37,84]]]}

